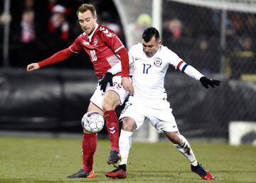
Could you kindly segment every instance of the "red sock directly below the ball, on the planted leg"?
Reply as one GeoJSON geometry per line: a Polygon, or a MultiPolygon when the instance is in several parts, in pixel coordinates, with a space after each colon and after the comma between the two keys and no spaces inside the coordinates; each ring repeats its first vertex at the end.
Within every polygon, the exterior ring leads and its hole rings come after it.
{"type": "Polygon", "coordinates": [[[93,155],[97,147],[97,133],[84,133],[82,136],[82,163],[85,172],[92,171],[93,155]]]}

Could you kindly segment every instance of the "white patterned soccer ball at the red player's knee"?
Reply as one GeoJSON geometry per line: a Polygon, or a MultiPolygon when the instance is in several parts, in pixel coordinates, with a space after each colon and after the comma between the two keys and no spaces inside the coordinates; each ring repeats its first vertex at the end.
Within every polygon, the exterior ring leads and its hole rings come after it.
{"type": "Polygon", "coordinates": [[[104,126],[104,118],[97,111],[82,116],[82,128],[88,133],[99,133],[104,126]]]}

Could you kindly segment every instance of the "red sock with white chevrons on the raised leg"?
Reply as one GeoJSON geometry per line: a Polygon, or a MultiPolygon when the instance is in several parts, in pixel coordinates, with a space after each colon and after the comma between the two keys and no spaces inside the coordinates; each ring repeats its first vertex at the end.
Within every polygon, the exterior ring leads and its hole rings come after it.
{"type": "Polygon", "coordinates": [[[107,132],[110,137],[111,150],[119,153],[119,121],[114,110],[105,111],[104,113],[107,132]]]}

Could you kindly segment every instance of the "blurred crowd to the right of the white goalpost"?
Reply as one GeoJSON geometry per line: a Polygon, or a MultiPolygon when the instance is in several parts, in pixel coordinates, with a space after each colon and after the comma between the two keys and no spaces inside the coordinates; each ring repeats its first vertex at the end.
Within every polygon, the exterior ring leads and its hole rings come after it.
{"type": "Polygon", "coordinates": [[[171,9],[163,11],[164,44],[198,70],[205,74],[224,71],[232,74],[231,77],[239,77],[235,74],[241,72],[256,72],[256,14],[227,11],[222,25],[223,12],[219,9],[171,1],[164,1],[163,7],[171,9]],[[225,28],[224,45],[221,43],[222,26],[225,28]]]}

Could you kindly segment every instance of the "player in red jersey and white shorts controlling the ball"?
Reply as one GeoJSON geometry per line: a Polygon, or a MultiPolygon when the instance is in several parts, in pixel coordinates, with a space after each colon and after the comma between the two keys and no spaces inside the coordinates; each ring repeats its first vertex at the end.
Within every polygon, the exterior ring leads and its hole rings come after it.
{"type": "MultiPolygon", "coordinates": [[[[114,109],[124,102],[129,93],[133,94],[134,92],[129,79],[129,56],[117,35],[106,26],[97,23],[96,10],[92,4],[82,4],[78,8],[77,15],[83,33],[75,39],[69,48],[60,50],[41,62],[31,63],[27,66],[27,71],[38,70],[46,65],[61,62],[82,50],[90,55],[99,84],[90,99],[87,111],[97,111],[105,116],[111,143],[110,157],[107,163],[114,164],[120,160],[119,121],[114,109]],[[122,72],[116,73],[113,67],[120,62],[122,72]]],[[[82,138],[83,167],[68,177],[94,177],[92,164],[96,146],[97,134],[84,131],[82,138]]]]}

